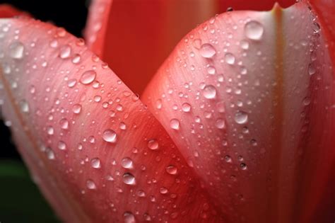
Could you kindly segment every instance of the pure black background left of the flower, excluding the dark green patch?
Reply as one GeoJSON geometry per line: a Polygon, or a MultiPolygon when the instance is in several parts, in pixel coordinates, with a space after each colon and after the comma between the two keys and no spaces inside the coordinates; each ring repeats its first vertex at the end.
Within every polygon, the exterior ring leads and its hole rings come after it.
{"type": "MultiPolygon", "coordinates": [[[[0,4],[11,4],[22,11],[28,11],[34,18],[51,21],[64,27],[69,33],[82,37],[88,13],[88,0],[0,0],[0,4]]],[[[0,120],[0,160],[20,159],[16,147],[11,142],[11,133],[0,120]]]]}

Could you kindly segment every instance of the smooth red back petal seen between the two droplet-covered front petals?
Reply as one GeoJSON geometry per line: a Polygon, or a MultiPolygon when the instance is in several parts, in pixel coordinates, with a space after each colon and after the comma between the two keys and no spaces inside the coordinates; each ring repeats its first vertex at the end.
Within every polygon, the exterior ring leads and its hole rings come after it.
{"type": "MultiPolygon", "coordinates": [[[[107,32],[100,35],[106,40],[100,45],[102,59],[131,90],[141,93],[177,42],[215,13],[216,0],[114,0],[107,32]]],[[[90,15],[88,21],[93,21],[93,13],[90,15]]]]}

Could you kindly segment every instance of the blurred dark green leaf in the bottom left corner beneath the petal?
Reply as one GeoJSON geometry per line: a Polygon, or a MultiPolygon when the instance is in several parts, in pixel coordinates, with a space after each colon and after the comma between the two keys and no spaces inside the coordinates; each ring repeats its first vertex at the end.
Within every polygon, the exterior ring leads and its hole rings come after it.
{"type": "Polygon", "coordinates": [[[59,222],[19,161],[0,160],[0,222],[59,222]]]}

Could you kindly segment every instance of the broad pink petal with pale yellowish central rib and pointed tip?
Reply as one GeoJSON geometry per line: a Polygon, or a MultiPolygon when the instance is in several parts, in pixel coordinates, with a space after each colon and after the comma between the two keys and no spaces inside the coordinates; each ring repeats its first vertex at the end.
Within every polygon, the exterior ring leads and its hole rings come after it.
{"type": "Polygon", "coordinates": [[[305,3],[211,18],[143,94],[227,222],[334,219],[335,81],[313,18],[305,3]]]}

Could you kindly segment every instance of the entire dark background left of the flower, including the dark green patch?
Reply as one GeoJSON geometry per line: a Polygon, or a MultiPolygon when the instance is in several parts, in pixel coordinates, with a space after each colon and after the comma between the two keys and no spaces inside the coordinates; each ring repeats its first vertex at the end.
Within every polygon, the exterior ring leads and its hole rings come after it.
{"type": "MultiPolygon", "coordinates": [[[[82,37],[89,3],[87,0],[0,0],[0,4],[11,4],[34,18],[64,27],[77,37],[82,37]]],[[[0,222],[59,222],[31,180],[3,120],[0,120],[0,222]]]]}

